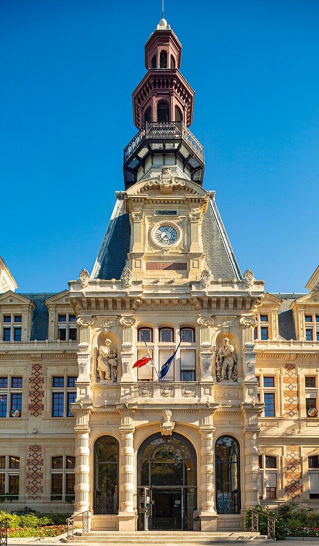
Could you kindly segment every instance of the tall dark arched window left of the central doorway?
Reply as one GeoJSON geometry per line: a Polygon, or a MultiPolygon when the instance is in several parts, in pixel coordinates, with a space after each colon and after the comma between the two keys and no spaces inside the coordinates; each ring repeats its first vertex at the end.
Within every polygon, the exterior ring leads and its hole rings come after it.
{"type": "Polygon", "coordinates": [[[94,511],[117,514],[118,511],[118,441],[102,436],[94,444],[94,511]]]}

